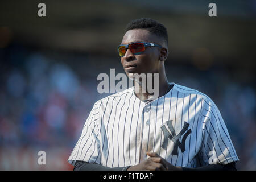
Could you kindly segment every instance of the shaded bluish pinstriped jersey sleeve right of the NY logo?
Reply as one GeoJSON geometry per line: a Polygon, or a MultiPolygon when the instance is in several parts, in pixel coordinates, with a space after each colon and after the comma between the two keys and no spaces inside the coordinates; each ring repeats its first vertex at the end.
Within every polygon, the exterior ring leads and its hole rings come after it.
{"type": "Polygon", "coordinates": [[[199,152],[201,159],[203,159],[203,166],[238,161],[228,129],[213,101],[205,101],[203,117],[205,122],[204,137],[199,152]]]}

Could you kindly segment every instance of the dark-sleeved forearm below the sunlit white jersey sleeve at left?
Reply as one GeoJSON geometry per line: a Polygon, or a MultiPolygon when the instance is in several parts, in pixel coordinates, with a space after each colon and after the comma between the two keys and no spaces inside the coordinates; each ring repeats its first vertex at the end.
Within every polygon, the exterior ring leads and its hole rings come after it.
{"type": "Polygon", "coordinates": [[[74,171],[126,171],[128,167],[105,167],[100,164],[86,163],[77,161],[74,166],[74,171]]]}

